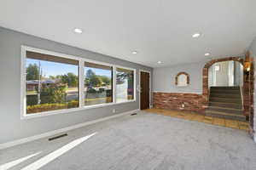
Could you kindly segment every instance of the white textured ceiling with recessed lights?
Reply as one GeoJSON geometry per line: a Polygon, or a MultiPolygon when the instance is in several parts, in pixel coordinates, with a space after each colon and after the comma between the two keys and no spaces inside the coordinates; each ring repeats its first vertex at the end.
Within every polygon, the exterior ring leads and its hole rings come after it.
{"type": "Polygon", "coordinates": [[[255,7],[255,0],[1,0],[0,26],[159,67],[244,54],[256,36],[255,7]]]}

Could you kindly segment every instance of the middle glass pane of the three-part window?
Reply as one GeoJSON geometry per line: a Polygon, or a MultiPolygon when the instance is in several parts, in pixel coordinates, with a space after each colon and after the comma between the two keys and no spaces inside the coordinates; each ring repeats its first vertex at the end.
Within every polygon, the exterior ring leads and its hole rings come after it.
{"type": "Polygon", "coordinates": [[[84,63],[84,105],[113,102],[113,67],[84,63]]]}

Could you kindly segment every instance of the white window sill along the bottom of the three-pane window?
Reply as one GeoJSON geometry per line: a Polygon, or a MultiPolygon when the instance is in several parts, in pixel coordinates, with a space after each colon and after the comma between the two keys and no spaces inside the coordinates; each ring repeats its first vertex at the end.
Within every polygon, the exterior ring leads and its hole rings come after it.
{"type": "Polygon", "coordinates": [[[83,106],[83,107],[79,107],[79,108],[64,109],[64,110],[57,110],[57,111],[44,111],[44,112],[39,112],[39,113],[21,115],[20,119],[31,119],[31,118],[42,117],[42,116],[66,114],[66,113],[70,113],[70,112],[85,111],[85,110],[89,110],[89,109],[96,109],[96,108],[106,107],[106,106],[110,106],[110,105],[126,104],[126,103],[135,102],[135,101],[136,101],[135,99],[132,99],[132,100],[122,101],[122,102],[117,102],[117,103],[87,105],[87,106],[83,106]]]}

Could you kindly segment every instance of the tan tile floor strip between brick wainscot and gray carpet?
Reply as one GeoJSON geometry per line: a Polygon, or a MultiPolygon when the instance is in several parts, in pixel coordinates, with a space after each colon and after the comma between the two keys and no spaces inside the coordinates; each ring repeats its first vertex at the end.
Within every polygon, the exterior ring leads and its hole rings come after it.
{"type": "Polygon", "coordinates": [[[169,110],[155,109],[155,108],[144,110],[144,111],[160,114],[164,116],[174,116],[177,118],[186,119],[186,120],[195,121],[195,122],[205,122],[205,123],[210,123],[217,126],[248,130],[247,122],[240,122],[240,121],[223,119],[223,118],[212,117],[212,116],[203,116],[203,115],[189,112],[189,111],[169,111],[169,110]]]}

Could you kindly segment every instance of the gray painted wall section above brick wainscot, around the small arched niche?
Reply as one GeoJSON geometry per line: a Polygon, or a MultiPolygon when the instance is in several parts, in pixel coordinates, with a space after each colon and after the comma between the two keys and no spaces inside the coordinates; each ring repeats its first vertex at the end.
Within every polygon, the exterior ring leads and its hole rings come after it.
{"type": "Polygon", "coordinates": [[[172,67],[155,68],[153,73],[154,92],[167,93],[202,93],[202,69],[207,61],[172,67]],[[187,87],[177,87],[175,77],[178,72],[185,71],[189,74],[190,83],[187,87]]]}

